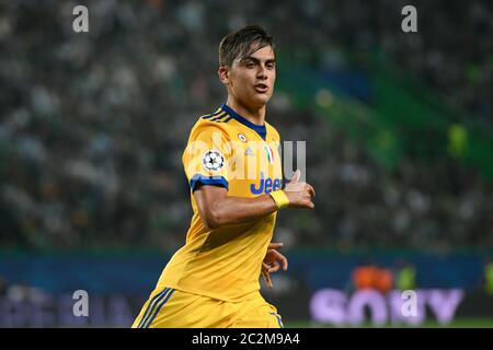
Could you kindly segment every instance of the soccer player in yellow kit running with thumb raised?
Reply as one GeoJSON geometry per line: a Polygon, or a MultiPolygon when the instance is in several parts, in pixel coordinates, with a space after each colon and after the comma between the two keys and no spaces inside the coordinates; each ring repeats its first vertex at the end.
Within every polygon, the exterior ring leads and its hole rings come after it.
{"type": "Polygon", "coordinates": [[[193,127],[183,164],[193,218],[133,327],[283,327],[260,294],[261,273],[286,259],[271,243],[277,211],[314,207],[297,171],[283,189],[280,138],[265,121],[274,91],[272,36],[257,25],[222,38],[218,75],[228,100],[193,127]]]}

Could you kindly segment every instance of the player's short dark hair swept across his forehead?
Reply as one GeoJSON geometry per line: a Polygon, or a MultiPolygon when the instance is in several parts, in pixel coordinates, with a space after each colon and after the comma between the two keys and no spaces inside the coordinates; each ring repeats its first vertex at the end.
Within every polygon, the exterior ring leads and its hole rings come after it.
{"type": "Polygon", "coordinates": [[[231,67],[237,58],[241,60],[265,46],[274,49],[272,35],[260,25],[248,25],[222,38],[219,44],[219,66],[231,67]]]}

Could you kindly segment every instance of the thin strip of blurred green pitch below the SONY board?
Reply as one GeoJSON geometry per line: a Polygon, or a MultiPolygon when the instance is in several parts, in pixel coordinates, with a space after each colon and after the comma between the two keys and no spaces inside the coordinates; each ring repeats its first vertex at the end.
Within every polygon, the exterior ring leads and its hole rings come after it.
{"type": "Polygon", "coordinates": [[[402,324],[388,324],[383,326],[374,326],[369,323],[364,323],[359,326],[344,326],[334,327],[332,325],[324,325],[319,323],[311,323],[307,320],[300,322],[284,322],[286,328],[493,328],[493,318],[463,318],[455,319],[447,325],[440,325],[436,320],[426,320],[420,326],[410,326],[402,324]]]}

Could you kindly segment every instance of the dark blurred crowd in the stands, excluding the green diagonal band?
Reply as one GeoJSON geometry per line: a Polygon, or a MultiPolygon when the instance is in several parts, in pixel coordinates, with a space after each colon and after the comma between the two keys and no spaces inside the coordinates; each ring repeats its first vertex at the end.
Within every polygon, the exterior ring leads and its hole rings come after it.
{"type": "MultiPolygon", "coordinates": [[[[181,246],[191,219],[182,151],[196,118],[225,102],[220,38],[249,23],[313,65],[378,47],[491,128],[491,3],[469,1],[465,13],[420,1],[421,33],[402,39],[404,2],[82,1],[88,34],[72,31],[79,2],[2,2],[0,245],[181,246]]],[[[279,214],[288,247],[491,246],[492,186],[475,172],[444,160],[388,173],[285,94],[267,120],[285,140],[308,140],[318,194],[314,213],[279,214]]]]}

